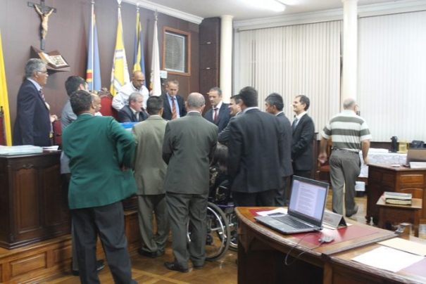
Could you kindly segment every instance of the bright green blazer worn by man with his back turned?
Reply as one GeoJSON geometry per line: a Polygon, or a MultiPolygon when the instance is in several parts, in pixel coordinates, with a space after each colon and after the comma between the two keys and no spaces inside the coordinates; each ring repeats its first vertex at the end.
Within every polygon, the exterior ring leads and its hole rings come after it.
{"type": "Polygon", "coordinates": [[[62,146],[70,158],[70,209],[109,205],[135,193],[134,138],[113,117],[79,115],[64,129],[62,146]]]}

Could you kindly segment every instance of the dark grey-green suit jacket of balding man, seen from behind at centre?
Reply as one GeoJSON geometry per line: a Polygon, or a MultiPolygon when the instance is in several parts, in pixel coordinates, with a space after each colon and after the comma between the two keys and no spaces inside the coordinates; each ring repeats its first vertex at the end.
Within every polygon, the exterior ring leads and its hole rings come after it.
{"type": "Polygon", "coordinates": [[[199,112],[170,120],[163,142],[163,160],[168,164],[165,191],[208,194],[209,165],[217,142],[218,127],[199,112]]]}

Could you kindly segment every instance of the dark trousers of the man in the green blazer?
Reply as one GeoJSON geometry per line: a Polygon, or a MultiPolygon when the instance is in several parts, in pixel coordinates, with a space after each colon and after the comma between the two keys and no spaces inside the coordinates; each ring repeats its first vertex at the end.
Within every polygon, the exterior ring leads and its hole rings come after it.
{"type": "Polygon", "coordinates": [[[135,283],[127,251],[121,202],[71,210],[81,283],[99,283],[96,271],[96,238],[99,235],[115,283],[135,283]]]}

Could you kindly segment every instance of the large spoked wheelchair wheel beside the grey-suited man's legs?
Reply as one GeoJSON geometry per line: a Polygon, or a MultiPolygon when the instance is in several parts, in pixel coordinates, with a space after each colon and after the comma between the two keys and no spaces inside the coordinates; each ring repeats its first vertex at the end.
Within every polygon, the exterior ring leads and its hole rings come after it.
{"type": "Polygon", "coordinates": [[[206,260],[213,262],[222,258],[230,247],[230,227],[227,217],[217,205],[207,205],[206,260]]]}

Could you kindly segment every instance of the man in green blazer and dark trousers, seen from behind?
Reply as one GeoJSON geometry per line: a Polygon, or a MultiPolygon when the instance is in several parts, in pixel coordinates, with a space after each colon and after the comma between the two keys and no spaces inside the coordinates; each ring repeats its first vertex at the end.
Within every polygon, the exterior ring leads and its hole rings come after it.
{"type": "Polygon", "coordinates": [[[115,283],[135,283],[120,202],[136,192],[132,171],[127,170],[134,158],[134,138],[113,117],[94,116],[96,106],[89,92],[76,91],[70,102],[77,120],[63,131],[63,151],[70,158],[68,205],[80,281],[99,283],[99,235],[115,283]]]}

